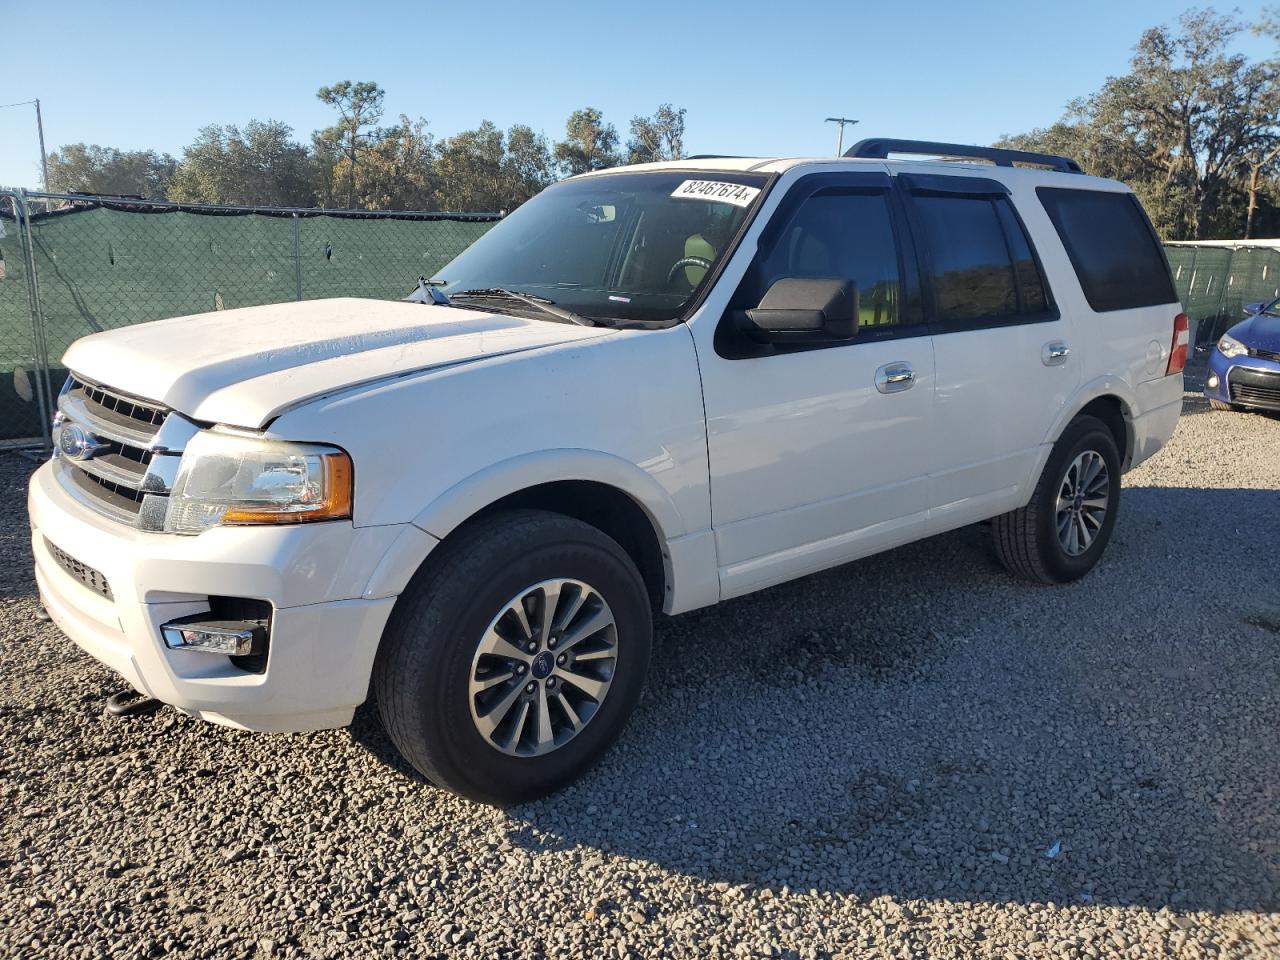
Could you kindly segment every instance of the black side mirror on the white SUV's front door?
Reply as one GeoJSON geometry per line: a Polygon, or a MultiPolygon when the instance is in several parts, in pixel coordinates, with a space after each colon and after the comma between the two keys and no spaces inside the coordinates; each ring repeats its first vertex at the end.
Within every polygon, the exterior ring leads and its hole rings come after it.
{"type": "Polygon", "coordinates": [[[785,276],[745,314],[759,343],[838,343],[858,335],[858,287],[828,276],[785,276]]]}

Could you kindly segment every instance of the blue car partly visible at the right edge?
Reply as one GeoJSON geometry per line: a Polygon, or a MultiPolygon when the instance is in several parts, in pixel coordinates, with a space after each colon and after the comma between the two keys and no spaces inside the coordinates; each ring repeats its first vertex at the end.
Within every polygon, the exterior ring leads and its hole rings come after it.
{"type": "Polygon", "coordinates": [[[1280,297],[1244,312],[1208,356],[1204,396],[1213,410],[1280,411],[1280,297]]]}

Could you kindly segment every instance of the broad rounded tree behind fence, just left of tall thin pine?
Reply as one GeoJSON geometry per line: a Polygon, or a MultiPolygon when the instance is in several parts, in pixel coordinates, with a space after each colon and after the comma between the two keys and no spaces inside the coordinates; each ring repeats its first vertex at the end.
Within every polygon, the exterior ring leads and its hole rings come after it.
{"type": "Polygon", "coordinates": [[[278,120],[243,129],[211,124],[183,151],[169,198],[198,204],[311,206],[317,169],[310,151],[278,120]]]}

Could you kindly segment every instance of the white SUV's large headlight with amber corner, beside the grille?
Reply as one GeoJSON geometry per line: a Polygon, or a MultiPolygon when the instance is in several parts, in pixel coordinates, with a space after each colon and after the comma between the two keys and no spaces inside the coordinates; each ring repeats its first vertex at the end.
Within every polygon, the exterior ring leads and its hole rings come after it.
{"type": "Polygon", "coordinates": [[[335,447],[201,430],[187,444],[164,529],[351,516],[351,457],[335,447]]]}

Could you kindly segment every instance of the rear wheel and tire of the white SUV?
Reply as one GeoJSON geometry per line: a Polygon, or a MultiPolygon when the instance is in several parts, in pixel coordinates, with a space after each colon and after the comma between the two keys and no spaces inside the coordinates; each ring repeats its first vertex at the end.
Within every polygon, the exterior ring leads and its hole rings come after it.
{"type": "Polygon", "coordinates": [[[1098,562],[1120,508],[1120,453],[1101,420],[1073,420],[1053,444],[1030,502],[992,521],[1005,568],[1038,584],[1065,584],[1098,562]]]}

